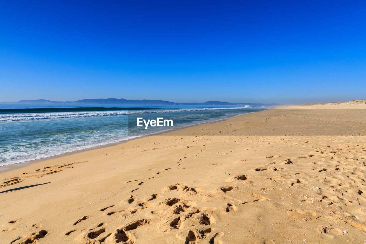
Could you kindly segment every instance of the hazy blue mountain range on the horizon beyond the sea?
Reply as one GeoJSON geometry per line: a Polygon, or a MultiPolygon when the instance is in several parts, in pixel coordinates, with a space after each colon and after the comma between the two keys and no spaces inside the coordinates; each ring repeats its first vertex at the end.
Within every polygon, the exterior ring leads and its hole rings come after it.
{"type": "Polygon", "coordinates": [[[77,101],[50,101],[45,99],[37,100],[20,100],[18,102],[11,102],[18,104],[138,104],[138,105],[279,105],[279,104],[263,104],[263,103],[228,103],[222,101],[206,101],[205,103],[173,103],[164,100],[128,100],[128,99],[82,99],[77,101]]]}

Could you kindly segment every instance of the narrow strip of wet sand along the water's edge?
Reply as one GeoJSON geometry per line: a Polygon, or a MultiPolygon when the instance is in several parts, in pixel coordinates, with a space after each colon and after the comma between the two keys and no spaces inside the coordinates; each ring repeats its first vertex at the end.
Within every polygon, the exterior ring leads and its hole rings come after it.
{"type": "Polygon", "coordinates": [[[163,131],[163,132],[157,132],[157,133],[147,134],[147,135],[144,135],[144,136],[137,136],[137,137],[134,137],[134,138],[130,138],[130,139],[126,139],[126,140],[121,140],[121,141],[117,141],[117,142],[114,142],[114,143],[108,143],[108,144],[104,144],[104,145],[88,147],[88,148],[84,148],[84,149],[75,150],[75,151],[72,151],[72,152],[64,152],[62,154],[48,156],[48,157],[44,157],[44,158],[40,158],[40,159],[33,159],[33,160],[28,160],[28,161],[19,162],[19,163],[6,164],[6,165],[3,165],[3,166],[0,166],[0,173],[7,172],[7,171],[11,171],[11,170],[15,170],[15,169],[20,169],[22,167],[26,167],[26,166],[28,166],[30,164],[37,163],[37,162],[41,162],[41,161],[44,161],[44,160],[60,158],[60,157],[63,157],[63,156],[68,156],[68,155],[76,154],[76,153],[79,153],[79,152],[86,152],[86,151],[90,151],[90,150],[94,150],[94,149],[101,149],[101,148],[106,148],[106,147],[112,147],[114,145],[123,144],[123,143],[126,143],[127,141],[136,140],[136,139],[139,139],[139,138],[144,138],[144,137],[149,137],[149,136],[155,136],[155,135],[161,135],[161,134],[164,134],[164,133],[174,132],[174,131],[178,131],[178,130],[182,130],[182,129],[186,129],[186,128],[190,128],[190,127],[195,127],[195,126],[200,126],[200,125],[207,125],[207,124],[217,123],[217,122],[221,122],[221,121],[227,121],[228,119],[236,118],[236,117],[239,117],[239,116],[244,116],[244,115],[247,115],[247,114],[253,114],[253,113],[263,112],[263,111],[267,111],[267,110],[271,110],[271,109],[273,109],[273,108],[269,108],[269,109],[262,110],[262,111],[257,111],[257,112],[248,112],[246,114],[235,115],[233,117],[219,119],[217,121],[202,122],[202,123],[198,123],[198,124],[195,124],[195,125],[183,126],[183,127],[179,127],[179,128],[176,128],[176,129],[171,129],[171,130],[163,131]]]}

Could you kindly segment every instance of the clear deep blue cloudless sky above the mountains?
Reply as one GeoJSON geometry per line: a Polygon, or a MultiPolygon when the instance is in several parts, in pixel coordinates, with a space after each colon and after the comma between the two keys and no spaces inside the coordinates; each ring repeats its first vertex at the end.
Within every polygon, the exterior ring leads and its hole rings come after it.
{"type": "Polygon", "coordinates": [[[366,1],[1,1],[0,101],[366,99],[366,1]]]}

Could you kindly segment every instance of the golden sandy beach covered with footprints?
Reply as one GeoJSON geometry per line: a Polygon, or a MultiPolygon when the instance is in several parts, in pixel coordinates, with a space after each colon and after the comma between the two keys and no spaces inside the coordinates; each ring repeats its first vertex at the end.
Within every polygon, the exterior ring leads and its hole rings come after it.
{"type": "Polygon", "coordinates": [[[0,243],[365,243],[366,104],[327,106],[3,172],[0,243]]]}

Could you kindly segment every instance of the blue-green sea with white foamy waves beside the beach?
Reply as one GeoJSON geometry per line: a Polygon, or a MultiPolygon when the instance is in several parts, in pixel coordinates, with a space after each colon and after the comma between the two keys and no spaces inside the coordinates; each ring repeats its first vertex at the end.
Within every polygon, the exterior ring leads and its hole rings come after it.
{"type": "Polygon", "coordinates": [[[0,166],[214,122],[268,106],[0,104],[0,166]],[[173,127],[136,126],[136,118],[172,119],[173,127]]]}

